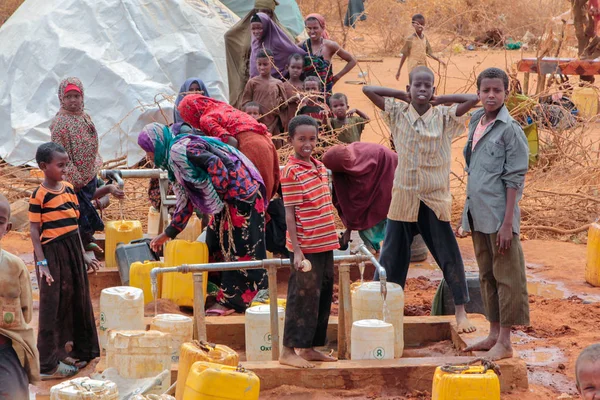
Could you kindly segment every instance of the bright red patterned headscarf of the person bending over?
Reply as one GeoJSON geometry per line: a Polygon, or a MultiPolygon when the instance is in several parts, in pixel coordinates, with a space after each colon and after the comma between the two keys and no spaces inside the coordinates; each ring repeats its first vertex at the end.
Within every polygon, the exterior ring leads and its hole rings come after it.
{"type": "Polygon", "coordinates": [[[227,103],[201,94],[187,95],[179,103],[181,118],[207,136],[222,138],[238,133],[269,135],[267,126],[227,103]]]}

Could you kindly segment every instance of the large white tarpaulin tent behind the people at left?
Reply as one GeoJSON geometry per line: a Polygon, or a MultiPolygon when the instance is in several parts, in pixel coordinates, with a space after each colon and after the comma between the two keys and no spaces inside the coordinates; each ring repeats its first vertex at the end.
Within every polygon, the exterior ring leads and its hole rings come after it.
{"type": "Polygon", "coordinates": [[[238,20],[217,0],[27,0],[0,28],[0,157],[35,157],[50,140],[60,81],[76,76],[102,157],[139,161],[137,133],[171,122],[186,78],[226,100],[223,35],[238,20]]]}

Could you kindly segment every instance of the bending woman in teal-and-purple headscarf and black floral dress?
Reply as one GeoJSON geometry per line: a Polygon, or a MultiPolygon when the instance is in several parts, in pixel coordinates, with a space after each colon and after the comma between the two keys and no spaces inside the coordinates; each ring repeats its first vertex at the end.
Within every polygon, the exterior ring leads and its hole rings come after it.
{"type": "MultiPolygon", "coordinates": [[[[153,249],[174,239],[197,209],[211,215],[206,244],[213,262],[266,258],[264,184],[242,153],[210,137],[174,137],[168,126],[158,123],[144,127],[138,144],[168,172],[177,196],[172,221],[152,240],[153,249]]],[[[207,314],[244,312],[267,282],[263,269],[221,272],[218,303],[207,314]]]]}

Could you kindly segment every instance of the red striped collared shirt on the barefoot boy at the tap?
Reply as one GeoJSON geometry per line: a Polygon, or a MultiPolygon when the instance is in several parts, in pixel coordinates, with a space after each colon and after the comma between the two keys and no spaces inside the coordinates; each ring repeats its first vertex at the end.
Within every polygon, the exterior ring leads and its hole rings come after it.
{"type": "MultiPolygon", "coordinates": [[[[308,163],[290,156],[281,173],[281,190],[285,206],[295,207],[296,235],[302,252],[339,248],[325,166],[312,157],[308,163]]],[[[293,251],[289,233],[287,248],[293,251]]]]}

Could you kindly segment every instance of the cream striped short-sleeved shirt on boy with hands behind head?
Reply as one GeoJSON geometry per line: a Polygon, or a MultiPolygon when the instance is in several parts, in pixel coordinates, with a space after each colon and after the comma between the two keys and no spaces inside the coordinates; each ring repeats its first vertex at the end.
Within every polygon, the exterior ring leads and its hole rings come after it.
{"type": "Polygon", "coordinates": [[[412,105],[386,98],[385,117],[398,153],[388,218],[416,222],[423,201],[441,221],[450,221],[451,145],[465,131],[467,115],[457,117],[456,105],[419,115],[412,105]]]}

